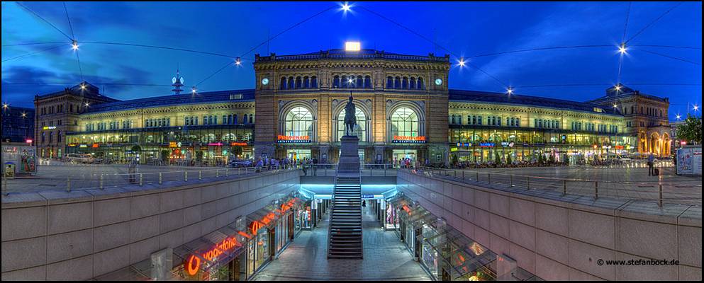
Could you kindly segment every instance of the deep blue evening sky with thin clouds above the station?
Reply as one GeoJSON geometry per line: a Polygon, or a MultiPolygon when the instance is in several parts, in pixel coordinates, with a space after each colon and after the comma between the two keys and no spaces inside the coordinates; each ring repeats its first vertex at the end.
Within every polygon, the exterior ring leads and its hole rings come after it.
{"type": "MultiPolygon", "coordinates": [[[[232,59],[208,54],[145,47],[82,43],[124,42],[177,47],[239,56],[286,28],[341,2],[66,2],[86,81],[104,87],[121,100],[163,96],[168,86],[120,86],[114,83],[168,85],[177,66],[186,86],[206,79],[232,59]],[[112,83],[101,85],[101,83],[112,83]]],[[[364,8],[397,21],[438,45],[464,57],[476,54],[568,45],[613,45],[543,50],[477,57],[469,62],[503,83],[471,67],[453,67],[450,88],[505,91],[584,101],[603,96],[618,79],[617,45],[622,41],[628,2],[350,2],[352,12],[335,8],[298,25],[271,41],[276,54],[300,54],[341,48],[359,40],[363,48],[403,54],[445,50],[364,8]],[[535,85],[600,84],[598,86],[535,85]]],[[[652,23],[676,2],[633,2],[626,38],[652,23]]],[[[62,2],[23,2],[39,16],[71,35],[62,2]]],[[[632,86],[642,93],[667,97],[670,118],[686,115],[688,103],[701,105],[702,4],[685,2],[633,38],[632,45],[697,47],[628,47],[622,83],[687,83],[693,86],[632,86]],[[656,52],[669,57],[653,54],[656,52]],[[681,60],[680,60],[681,59],[681,60]],[[686,60],[688,62],[684,62],[686,60]]],[[[60,91],[81,81],[70,40],[16,2],[2,2],[2,45],[65,42],[52,45],[3,46],[2,100],[33,107],[38,93],[60,91]],[[62,45],[63,44],[63,45],[62,45]],[[50,47],[53,50],[46,50],[50,47]],[[26,57],[14,57],[38,52],[26,57]]],[[[227,67],[199,84],[199,91],[253,88],[254,54],[241,67],[227,67]]],[[[453,56],[453,62],[455,57],[453,56]]]]}

